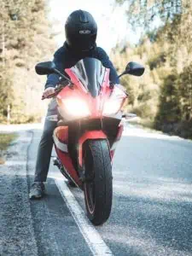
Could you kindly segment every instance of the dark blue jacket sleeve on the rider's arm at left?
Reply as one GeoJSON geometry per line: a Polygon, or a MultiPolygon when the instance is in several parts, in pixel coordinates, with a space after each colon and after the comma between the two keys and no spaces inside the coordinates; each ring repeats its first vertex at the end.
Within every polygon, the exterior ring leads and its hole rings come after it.
{"type": "MultiPolygon", "coordinates": [[[[62,49],[61,48],[56,50],[53,61],[55,62],[56,69],[58,69],[60,72],[63,72],[64,66],[63,66],[63,61],[62,61],[62,49]]],[[[44,89],[47,89],[49,87],[55,87],[56,84],[58,84],[59,80],[60,80],[60,76],[58,74],[56,74],[56,73],[49,74],[47,76],[47,81],[44,86],[44,89]]]]}

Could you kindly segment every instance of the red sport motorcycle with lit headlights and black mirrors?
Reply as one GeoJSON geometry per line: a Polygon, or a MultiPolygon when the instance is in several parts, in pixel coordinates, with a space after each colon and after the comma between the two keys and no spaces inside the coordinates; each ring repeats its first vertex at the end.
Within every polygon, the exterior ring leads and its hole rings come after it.
{"type": "MultiPolygon", "coordinates": [[[[84,190],[91,223],[103,224],[112,207],[112,160],[123,132],[121,109],[127,94],[121,86],[110,83],[109,69],[94,58],[85,58],[65,69],[67,75],[51,61],[38,63],[36,72],[61,77],[51,95],[56,97],[59,112],[53,134],[58,156],[55,165],[71,185],[84,190]]],[[[143,73],[144,67],[130,62],[119,77],[143,73]]]]}

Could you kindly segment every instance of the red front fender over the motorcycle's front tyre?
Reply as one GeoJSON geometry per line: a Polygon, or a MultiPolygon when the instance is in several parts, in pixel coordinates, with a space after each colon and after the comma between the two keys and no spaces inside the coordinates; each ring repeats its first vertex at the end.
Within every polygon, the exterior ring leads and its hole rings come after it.
{"type": "Polygon", "coordinates": [[[83,145],[86,140],[108,139],[103,131],[85,131],[79,138],[79,166],[83,166],[83,145]]]}

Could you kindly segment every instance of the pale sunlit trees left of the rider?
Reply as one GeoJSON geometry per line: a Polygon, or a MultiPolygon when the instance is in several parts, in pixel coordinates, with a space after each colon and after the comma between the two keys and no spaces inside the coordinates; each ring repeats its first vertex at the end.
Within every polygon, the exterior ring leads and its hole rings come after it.
{"type": "Polygon", "coordinates": [[[12,123],[38,119],[44,112],[44,79],[34,72],[54,51],[45,0],[0,0],[0,122],[10,106],[12,123]]]}

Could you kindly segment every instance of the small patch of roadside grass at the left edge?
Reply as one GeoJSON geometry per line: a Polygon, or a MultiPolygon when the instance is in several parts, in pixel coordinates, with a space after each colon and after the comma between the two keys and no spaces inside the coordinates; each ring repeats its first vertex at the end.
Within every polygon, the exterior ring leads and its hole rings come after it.
{"type": "Polygon", "coordinates": [[[3,152],[9,147],[9,144],[15,140],[15,133],[0,133],[0,165],[3,165],[3,152]]]}

